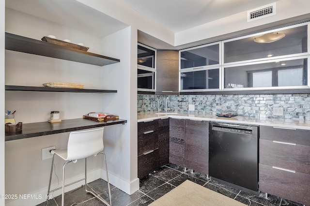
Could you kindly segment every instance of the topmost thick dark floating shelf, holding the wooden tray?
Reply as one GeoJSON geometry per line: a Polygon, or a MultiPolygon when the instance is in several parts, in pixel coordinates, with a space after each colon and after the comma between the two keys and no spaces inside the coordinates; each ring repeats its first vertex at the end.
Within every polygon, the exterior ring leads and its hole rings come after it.
{"type": "Polygon", "coordinates": [[[108,64],[120,62],[120,59],[114,59],[99,54],[35,40],[7,32],[5,33],[5,49],[98,66],[105,66],[108,64]]]}

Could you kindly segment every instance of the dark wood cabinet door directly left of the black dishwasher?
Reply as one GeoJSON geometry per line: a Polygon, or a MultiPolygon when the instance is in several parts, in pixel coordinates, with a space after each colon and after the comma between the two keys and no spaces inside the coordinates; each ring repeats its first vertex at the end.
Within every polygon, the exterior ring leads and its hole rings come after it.
{"type": "Polygon", "coordinates": [[[208,174],[209,122],[186,119],[185,167],[208,174]]]}

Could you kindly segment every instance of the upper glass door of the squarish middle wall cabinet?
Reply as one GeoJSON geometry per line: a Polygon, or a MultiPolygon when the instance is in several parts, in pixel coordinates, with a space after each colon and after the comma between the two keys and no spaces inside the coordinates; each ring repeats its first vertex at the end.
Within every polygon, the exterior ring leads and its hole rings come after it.
{"type": "Polygon", "coordinates": [[[180,68],[204,67],[219,64],[219,43],[202,45],[180,51],[180,68]]]}

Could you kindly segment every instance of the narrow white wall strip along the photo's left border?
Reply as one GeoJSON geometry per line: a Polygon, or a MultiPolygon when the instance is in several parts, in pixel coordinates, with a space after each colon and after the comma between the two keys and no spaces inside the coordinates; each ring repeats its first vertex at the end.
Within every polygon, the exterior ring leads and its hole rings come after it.
{"type": "MultiPolygon", "coordinates": [[[[0,1],[0,108],[4,110],[4,19],[5,1],[0,1]]],[[[4,191],[4,119],[0,118],[0,194],[4,191]]],[[[4,205],[4,199],[0,198],[0,205],[4,205]]]]}

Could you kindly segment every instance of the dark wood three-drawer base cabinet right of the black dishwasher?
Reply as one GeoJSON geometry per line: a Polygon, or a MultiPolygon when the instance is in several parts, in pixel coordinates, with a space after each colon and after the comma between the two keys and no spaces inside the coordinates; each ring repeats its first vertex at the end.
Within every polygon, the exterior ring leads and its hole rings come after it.
{"type": "Polygon", "coordinates": [[[308,130],[260,127],[260,191],[310,205],[308,130]]]}

